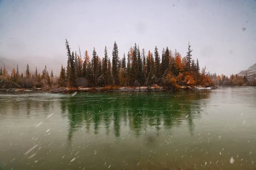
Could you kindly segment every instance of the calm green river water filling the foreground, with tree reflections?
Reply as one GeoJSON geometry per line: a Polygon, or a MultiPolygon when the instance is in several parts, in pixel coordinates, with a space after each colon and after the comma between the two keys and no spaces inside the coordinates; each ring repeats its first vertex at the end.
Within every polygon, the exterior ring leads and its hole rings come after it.
{"type": "Polygon", "coordinates": [[[256,88],[0,94],[0,164],[3,170],[255,170],[256,88]]]}

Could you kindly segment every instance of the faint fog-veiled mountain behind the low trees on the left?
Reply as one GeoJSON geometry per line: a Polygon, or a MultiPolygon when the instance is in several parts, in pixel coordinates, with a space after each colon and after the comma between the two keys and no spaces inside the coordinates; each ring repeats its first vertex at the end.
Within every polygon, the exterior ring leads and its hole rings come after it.
{"type": "MultiPolygon", "coordinates": [[[[65,56],[66,57],[66,56],[65,56]]],[[[35,67],[37,66],[38,72],[42,72],[44,69],[44,66],[47,66],[47,71],[53,72],[54,75],[58,75],[61,70],[61,64],[63,64],[63,67],[66,67],[67,62],[65,61],[65,57],[63,57],[63,60],[58,60],[54,58],[40,58],[40,57],[28,57],[28,58],[18,58],[18,59],[11,59],[6,57],[0,57],[0,67],[6,67],[6,71],[8,71],[8,74],[11,74],[12,68],[15,68],[17,65],[19,66],[19,72],[25,73],[26,72],[26,65],[29,64],[29,71],[34,73],[35,67]]]]}

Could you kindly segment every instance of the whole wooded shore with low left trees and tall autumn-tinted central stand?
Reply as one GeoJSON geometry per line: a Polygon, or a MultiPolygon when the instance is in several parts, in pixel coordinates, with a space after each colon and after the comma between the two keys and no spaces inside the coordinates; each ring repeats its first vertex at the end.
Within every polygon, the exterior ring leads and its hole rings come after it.
{"type": "Polygon", "coordinates": [[[117,43],[114,42],[112,61],[105,46],[104,57],[100,58],[96,49],[93,48],[93,55],[90,59],[85,51],[84,57],[78,52],[71,52],[69,42],[66,40],[67,66],[61,65],[59,75],[53,75],[52,71],[45,66],[42,72],[37,68],[31,71],[27,64],[26,73],[20,73],[18,65],[9,74],[6,68],[0,68],[0,88],[25,88],[52,90],[53,92],[76,91],[108,91],[114,89],[175,89],[190,87],[212,87],[209,73],[202,68],[200,70],[198,59],[192,59],[191,45],[188,44],[186,57],[182,57],[175,49],[174,52],[168,47],[163,48],[162,56],[157,46],[154,54],[143,48],[140,51],[139,45],[135,43],[127,54],[119,57],[117,43]],[[129,88],[128,88],[129,87],[129,88]],[[144,88],[143,88],[144,87],[144,88]]]}

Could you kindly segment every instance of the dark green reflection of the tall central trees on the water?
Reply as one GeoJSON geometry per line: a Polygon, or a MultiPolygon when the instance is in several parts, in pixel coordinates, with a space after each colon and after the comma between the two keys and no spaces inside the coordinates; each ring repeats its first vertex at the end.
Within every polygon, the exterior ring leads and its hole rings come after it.
{"type": "Polygon", "coordinates": [[[85,127],[87,133],[97,135],[105,130],[109,136],[111,126],[119,139],[122,129],[128,127],[139,138],[145,131],[154,129],[171,131],[173,126],[186,123],[193,135],[193,119],[201,116],[200,105],[209,98],[210,91],[176,92],[174,94],[79,94],[61,99],[62,116],[68,117],[67,140],[85,127]]]}

